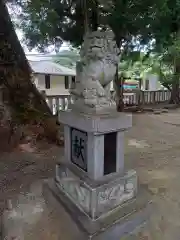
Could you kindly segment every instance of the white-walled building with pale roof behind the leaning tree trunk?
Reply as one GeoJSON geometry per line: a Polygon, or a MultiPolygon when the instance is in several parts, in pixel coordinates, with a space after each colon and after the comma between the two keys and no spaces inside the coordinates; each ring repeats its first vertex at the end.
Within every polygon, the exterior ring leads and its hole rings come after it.
{"type": "Polygon", "coordinates": [[[40,91],[46,95],[68,95],[69,89],[75,83],[76,71],[63,67],[52,61],[31,61],[34,82],[40,91]]]}

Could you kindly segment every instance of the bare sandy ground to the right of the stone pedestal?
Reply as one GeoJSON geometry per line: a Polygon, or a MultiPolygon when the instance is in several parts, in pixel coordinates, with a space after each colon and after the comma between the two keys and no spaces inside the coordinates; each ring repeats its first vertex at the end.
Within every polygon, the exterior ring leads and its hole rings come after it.
{"type": "Polygon", "coordinates": [[[126,167],[153,193],[151,226],[137,239],[180,239],[180,110],[134,115],[126,134],[126,167]]]}

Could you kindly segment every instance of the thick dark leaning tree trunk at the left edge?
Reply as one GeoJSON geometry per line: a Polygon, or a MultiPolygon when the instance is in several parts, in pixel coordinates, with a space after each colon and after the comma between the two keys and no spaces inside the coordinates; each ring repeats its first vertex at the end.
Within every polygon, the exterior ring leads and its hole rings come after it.
{"type": "Polygon", "coordinates": [[[31,78],[31,69],[8,9],[0,0],[0,85],[5,86],[8,105],[22,123],[40,119],[45,122],[52,118],[52,113],[31,78]]]}

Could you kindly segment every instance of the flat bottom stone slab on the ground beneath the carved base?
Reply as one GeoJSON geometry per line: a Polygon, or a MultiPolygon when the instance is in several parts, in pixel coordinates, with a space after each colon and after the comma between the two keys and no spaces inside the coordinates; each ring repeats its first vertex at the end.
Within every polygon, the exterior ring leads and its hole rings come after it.
{"type": "MultiPolygon", "coordinates": [[[[148,223],[152,204],[150,194],[140,189],[136,198],[116,208],[111,214],[92,221],[69,198],[59,191],[54,180],[44,183],[44,198],[48,208],[59,215],[60,228],[69,226],[68,240],[131,240],[148,223]],[[63,219],[62,219],[63,216],[63,219]],[[63,227],[64,226],[64,227],[63,227]]],[[[61,239],[62,236],[59,236],[61,239]]]]}

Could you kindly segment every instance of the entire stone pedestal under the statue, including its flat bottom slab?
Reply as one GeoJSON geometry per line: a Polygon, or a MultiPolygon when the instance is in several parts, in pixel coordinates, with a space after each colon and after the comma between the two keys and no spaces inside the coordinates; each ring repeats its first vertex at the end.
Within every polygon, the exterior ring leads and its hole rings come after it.
{"type": "Polygon", "coordinates": [[[60,111],[59,121],[64,160],[46,189],[67,208],[80,232],[85,230],[83,239],[116,240],[143,224],[148,194],[138,191],[134,170],[124,171],[124,131],[132,126],[131,115],[68,110],[60,111]]]}

